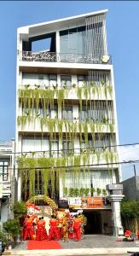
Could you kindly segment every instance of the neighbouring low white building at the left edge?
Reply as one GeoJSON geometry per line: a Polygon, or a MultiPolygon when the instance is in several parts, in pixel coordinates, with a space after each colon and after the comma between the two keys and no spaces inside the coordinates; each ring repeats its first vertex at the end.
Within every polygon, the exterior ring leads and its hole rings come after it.
{"type": "MultiPolygon", "coordinates": [[[[12,177],[14,176],[14,140],[0,142],[0,223],[11,216],[12,177]]],[[[13,177],[14,181],[14,177],[13,177]]],[[[14,191],[14,190],[13,190],[14,191]]],[[[14,194],[14,193],[13,193],[14,194]]]]}

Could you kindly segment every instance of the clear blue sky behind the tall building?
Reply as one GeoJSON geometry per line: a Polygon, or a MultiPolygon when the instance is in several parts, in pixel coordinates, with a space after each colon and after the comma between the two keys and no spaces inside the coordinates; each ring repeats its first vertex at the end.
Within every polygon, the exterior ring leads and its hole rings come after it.
{"type": "MultiPolygon", "coordinates": [[[[0,1],[0,141],[15,137],[17,28],[101,9],[108,9],[107,42],[114,69],[119,144],[139,143],[137,1],[0,1]]],[[[138,160],[139,145],[121,147],[120,156],[138,160]]],[[[134,174],[133,164],[122,169],[124,179],[134,174]]]]}

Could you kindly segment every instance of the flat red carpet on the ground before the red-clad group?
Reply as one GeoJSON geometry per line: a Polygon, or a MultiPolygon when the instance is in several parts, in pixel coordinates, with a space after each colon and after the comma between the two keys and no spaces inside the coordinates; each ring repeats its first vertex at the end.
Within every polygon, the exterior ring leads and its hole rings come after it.
{"type": "Polygon", "coordinates": [[[29,240],[27,244],[27,250],[47,250],[47,249],[61,249],[61,245],[59,241],[35,241],[29,240]]]}

